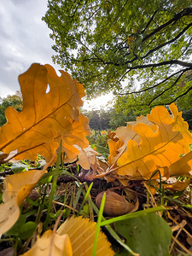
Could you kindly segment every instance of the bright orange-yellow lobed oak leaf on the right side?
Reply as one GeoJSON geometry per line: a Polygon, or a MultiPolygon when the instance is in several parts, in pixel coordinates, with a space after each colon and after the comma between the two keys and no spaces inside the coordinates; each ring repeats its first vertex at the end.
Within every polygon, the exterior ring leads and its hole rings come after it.
{"type": "Polygon", "coordinates": [[[189,153],[189,126],[174,103],[170,109],[172,114],[164,107],[156,107],[148,114],[148,121],[155,126],[142,122],[132,125],[140,143],[131,139],[126,144],[125,153],[117,160],[119,175],[149,178],[155,170],[169,167],[179,160],[179,155],[189,153]]]}

